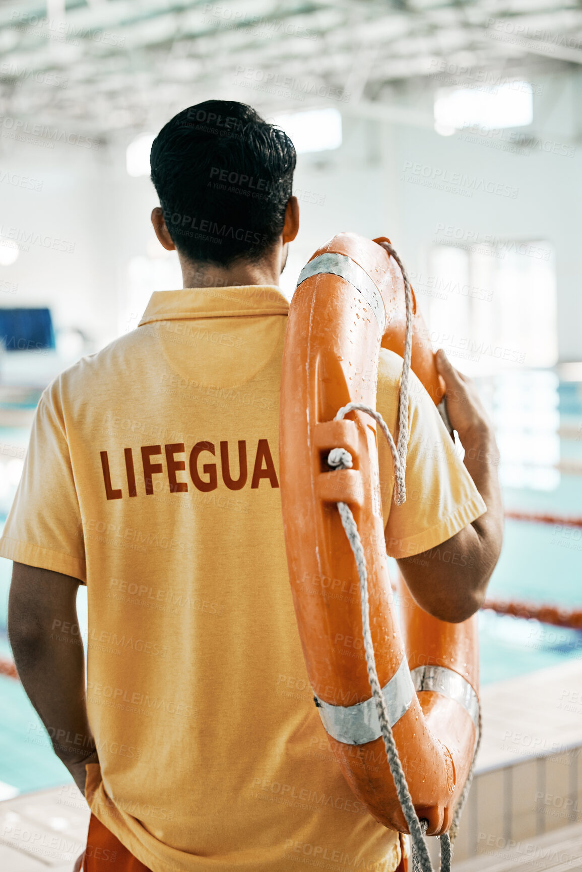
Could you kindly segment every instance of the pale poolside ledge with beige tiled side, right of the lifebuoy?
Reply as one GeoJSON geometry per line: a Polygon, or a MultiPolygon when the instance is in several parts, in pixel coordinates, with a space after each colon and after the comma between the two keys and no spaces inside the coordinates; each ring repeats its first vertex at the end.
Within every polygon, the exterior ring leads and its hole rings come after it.
{"type": "MultiPolygon", "coordinates": [[[[492,851],[544,834],[559,841],[582,822],[582,660],[487,685],[481,698],[483,741],[458,862],[485,853],[491,860],[492,851]]],[[[551,868],[537,861],[536,869],[551,868]]],[[[582,860],[570,868],[582,869],[582,860]]]]}

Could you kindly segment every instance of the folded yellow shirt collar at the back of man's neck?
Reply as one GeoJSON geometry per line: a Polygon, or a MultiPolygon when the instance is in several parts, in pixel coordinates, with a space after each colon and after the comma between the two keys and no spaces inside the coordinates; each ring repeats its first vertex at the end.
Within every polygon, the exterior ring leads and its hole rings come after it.
{"type": "Polygon", "coordinates": [[[138,326],[188,318],[287,315],[288,311],[283,291],[272,284],[155,290],[138,326]]]}

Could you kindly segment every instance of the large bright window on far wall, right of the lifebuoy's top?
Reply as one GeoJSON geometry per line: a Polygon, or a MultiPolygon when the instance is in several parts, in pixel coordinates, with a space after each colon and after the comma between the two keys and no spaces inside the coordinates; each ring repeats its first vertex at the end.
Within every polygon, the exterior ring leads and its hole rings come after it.
{"type": "Polygon", "coordinates": [[[549,242],[436,245],[414,283],[430,339],[468,375],[558,360],[556,276],[549,242]]]}

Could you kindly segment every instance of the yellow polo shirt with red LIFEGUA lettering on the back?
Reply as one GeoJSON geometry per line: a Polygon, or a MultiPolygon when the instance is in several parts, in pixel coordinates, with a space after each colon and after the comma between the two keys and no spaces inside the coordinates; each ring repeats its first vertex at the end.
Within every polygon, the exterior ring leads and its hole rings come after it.
{"type": "MultiPolygon", "coordinates": [[[[161,291],[139,327],[45,390],[0,554],[86,582],[92,812],[154,872],[392,872],[397,835],[355,799],[312,702],[287,578],[275,287],[161,291]]],[[[382,351],[394,432],[401,358],[382,351]]],[[[413,555],[485,511],[412,379],[413,555]]],[[[58,628],[63,642],[74,635],[58,628]]]]}

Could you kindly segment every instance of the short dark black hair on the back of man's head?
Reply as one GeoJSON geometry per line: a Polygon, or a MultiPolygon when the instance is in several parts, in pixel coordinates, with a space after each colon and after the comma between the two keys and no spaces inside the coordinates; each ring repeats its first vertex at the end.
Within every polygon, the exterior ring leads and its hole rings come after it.
{"type": "Polygon", "coordinates": [[[283,230],[297,157],[251,106],[206,100],[162,127],[150,155],[169,235],[190,260],[258,261],[283,230]]]}

